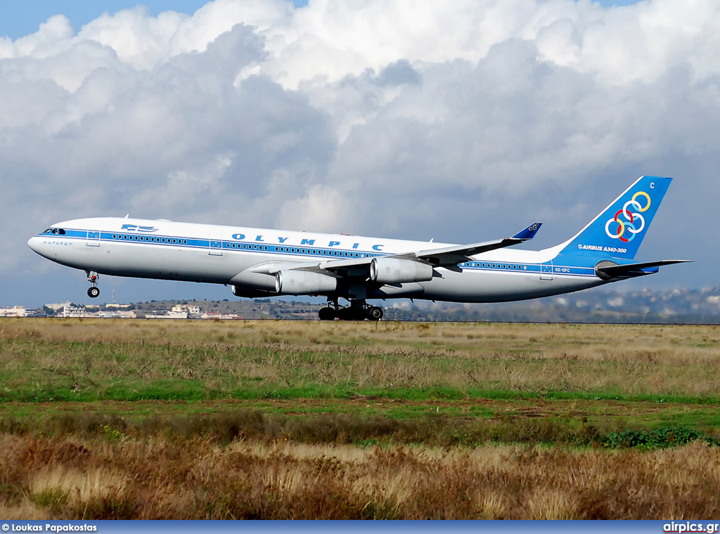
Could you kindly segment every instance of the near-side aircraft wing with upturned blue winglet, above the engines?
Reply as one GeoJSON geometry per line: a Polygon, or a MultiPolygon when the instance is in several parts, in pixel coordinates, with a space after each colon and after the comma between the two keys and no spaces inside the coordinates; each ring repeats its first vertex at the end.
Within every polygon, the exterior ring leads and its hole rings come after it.
{"type": "MultiPolygon", "coordinates": [[[[455,245],[446,248],[432,248],[420,252],[386,255],[385,258],[398,258],[411,261],[429,263],[433,266],[453,266],[464,261],[469,261],[470,256],[481,254],[489,250],[517,245],[524,241],[531,240],[540,229],[542,223],[534,222],[532,225],[516,233],[513,237],[505,237],[485,243],[474,243],[473,245],[455,245]]],[[[368,276],[372,257],[366,258],[343,258],[333,260],[319,260],[312,262],[269,262],[260,263],[248,269],[253,273],[275,275],[281,270],[312,271],[315,273],[327,274],[336,278],[368,276]]]]}

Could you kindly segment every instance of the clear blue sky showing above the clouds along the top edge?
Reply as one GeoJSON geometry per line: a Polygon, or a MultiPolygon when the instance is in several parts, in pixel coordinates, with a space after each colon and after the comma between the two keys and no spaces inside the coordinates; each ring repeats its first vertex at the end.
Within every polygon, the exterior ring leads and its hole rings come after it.
{"type": "MultiPolygon", "coordinates": [[[[176,11],[193,14],[209,0],[147,0],[140,4],[148,6],[150,14],[163,11],[176,11]]],[[[603,6],[626,6],[637,4],[639,0],[600,0],[603,6]]],[[[296,7],[307,5],[307,0],[292,0],[296,7]]],[[[138,5],[132,0],[0,0],[0,37],[16,40],[24,35],[37,32],[40,24],[53,15],[63,14],[80,31],[84,24],[96,19],[105,12],[115,13],[121,9],[130,9],[138,5]]]]}

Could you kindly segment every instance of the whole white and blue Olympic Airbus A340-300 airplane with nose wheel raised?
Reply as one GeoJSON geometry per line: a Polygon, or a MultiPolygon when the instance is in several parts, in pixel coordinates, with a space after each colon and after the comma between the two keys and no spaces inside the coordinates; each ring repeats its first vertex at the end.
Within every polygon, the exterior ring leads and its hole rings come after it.
{"type": "Polygon", "coordinates": [[[86,271],[89,297],[100,274],[225,284],[237,297],[327,297],[320,320],[380,320],[367,299],[508,302],[570,293],[657,273],[687,260],[634,257],[672,178],[642,176],[580,232],[544,250],[508,250],[512,237],[452,245],[129,216],[68,220],[31,237],[36,253],[86,271]],[[342,306],[339,299],[348,301],[342,306]]]}

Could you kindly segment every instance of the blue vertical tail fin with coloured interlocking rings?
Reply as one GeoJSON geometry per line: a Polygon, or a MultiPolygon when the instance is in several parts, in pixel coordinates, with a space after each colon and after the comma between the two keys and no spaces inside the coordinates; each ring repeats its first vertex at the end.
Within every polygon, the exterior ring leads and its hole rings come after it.
{"type": "Polygon", "coordinates": [[[563,243],[562,253],[633,259],[671,181],[660,176],[638,178],[575,237],[563,243]]]}

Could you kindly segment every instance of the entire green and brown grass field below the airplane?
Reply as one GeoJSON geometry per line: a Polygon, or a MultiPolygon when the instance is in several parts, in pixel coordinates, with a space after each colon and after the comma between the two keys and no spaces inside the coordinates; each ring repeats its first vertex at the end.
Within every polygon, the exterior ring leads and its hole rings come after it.
{"type": "Polygon", "coordinates": [[[720,515],[720,327],[0,320],[0,514],[720,515]]]}

